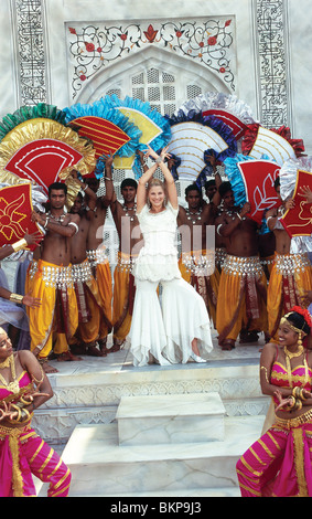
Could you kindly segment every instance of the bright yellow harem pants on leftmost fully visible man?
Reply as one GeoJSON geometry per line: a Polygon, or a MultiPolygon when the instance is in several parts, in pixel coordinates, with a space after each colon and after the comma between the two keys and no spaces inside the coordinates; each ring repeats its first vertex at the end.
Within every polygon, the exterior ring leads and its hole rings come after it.
{"type": "Polygon", "coordinates": [[[31,287],[31,295],[41,299],[39,308],[28,308],[31,351],[39,347],[39,359],[45,359],[52,348],[56,354],[68,351],[68,340],[78,327],[71,265],[62,267],[39,260],[36,272],[26,282],[28,285],[31,287]],[[56,287],[58,283],[62,284],[62,289],[56,287]],[[53,332],[56,335],[54,347],[53,332]]]}

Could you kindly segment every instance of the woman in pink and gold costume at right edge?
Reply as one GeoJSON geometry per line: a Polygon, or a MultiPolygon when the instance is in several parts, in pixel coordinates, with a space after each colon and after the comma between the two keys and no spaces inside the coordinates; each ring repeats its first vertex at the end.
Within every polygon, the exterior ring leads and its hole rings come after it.
{"type": "Polygon", "coordinates": [[[280,322],[279,345],[261,354],[263,394],[276,405],[273,425],[237,463],[243,497],[312,496],[312,351],[308,310],[294,307],[280,322]]]}

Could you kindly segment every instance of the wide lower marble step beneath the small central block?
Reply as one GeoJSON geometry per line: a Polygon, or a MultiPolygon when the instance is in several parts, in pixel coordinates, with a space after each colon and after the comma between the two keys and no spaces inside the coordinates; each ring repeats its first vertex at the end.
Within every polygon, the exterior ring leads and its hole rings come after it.
{"type": "Polygon", "coordinates": [[[263,421],[226,417],[224,441],[142,446],[120,446],[116,423],[77,426],[62,456],[73,475],[69,496],[237,489],[236,463],[260,436],[263,421]]]}

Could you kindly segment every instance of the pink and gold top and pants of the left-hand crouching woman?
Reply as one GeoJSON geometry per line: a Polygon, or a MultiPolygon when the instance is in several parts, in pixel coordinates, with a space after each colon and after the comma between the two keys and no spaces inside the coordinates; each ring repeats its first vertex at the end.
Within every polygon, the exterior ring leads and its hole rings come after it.
{"type": "MultiPolygon", "coordinates": [[[[0,401],[18,403],[33,388],[26,371],[18,378],[19,390],[0,385],[0,401]]],[[[50,483],[49,497],[66,497],[71,472],[60,456],[31,428],[6,427],[0,422],[0,497],[35,497],[32,474],[50,483]]]]}

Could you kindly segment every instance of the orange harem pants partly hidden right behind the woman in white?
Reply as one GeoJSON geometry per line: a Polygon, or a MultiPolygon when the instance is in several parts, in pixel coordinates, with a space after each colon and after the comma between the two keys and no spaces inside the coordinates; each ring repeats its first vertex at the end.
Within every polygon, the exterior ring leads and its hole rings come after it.
{"type": "Polygon", "coordinates": [[[220,274],[215,267],[215,257],[213,257],[213,265],[206,265],[205,268],[198,266],[196,260],[198,257],[207,257],[206,251],[201,251],[200,253],[183,253],[179,260],[179,268],[183,279],[192,285],[204,299],[208,315],[213,320],[214,327],[216,327],[216,308],[220,274]],[[207,269],[207,272],[212,272],[212,274],[201,275],[202,269],[207,269]]]}

